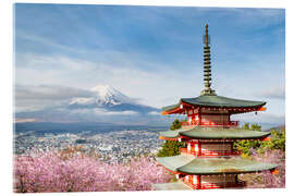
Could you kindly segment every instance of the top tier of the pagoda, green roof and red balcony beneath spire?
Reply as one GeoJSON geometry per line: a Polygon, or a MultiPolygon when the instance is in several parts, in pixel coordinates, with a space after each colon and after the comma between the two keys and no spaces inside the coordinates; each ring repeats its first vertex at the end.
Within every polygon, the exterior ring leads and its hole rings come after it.
{"type": "Polygon", "coordinates": [[[186,114],[189,126],[238,126],[231,115],[245,112],[265,111],[265,101],[232,99],[217,95],[201,95],[195,98],[182,98],[179,103],[163,107],[161,114],[186,114]]]}

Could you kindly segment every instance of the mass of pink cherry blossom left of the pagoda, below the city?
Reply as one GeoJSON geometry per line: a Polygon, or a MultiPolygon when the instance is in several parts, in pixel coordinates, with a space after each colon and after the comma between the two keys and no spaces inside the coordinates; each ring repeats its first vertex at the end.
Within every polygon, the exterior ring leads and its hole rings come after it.
{"type": "Polygon", "coordinates": [[[151,184],[171,179],[150,157],[112,164],[79,152],[68,158],[59,151],[14,157],[14,191],[21,193],[149,191],[151,184]]]}

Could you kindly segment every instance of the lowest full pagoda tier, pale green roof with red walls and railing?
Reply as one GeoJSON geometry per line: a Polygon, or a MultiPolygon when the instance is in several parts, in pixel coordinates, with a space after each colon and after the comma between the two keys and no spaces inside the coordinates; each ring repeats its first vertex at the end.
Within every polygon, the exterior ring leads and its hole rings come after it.
{"type": "MultiPolygon", "coordinates": [[[[168,171],[175,174],[179,179],[176,186],[184,183],[191,189],[209,189],[209,188],[241,188],[245,182],[237,179],[242,173],[256,173],[266,170],[274,171],[278,167],[272,163],[258,162],[238,156],[206,158],[195,157],[189,154],[180,156],[157,158],[159,164],[168,171]]],[[[158,184],[154,187],[162,189],[173,186],[158,184]]],[[[184,187],[184,185],[182,184],[184,187]]]]}

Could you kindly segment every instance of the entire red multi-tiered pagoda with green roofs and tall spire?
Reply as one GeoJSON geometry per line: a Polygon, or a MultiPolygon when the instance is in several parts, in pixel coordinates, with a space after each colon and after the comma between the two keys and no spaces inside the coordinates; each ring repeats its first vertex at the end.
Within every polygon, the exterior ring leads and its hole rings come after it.
{"type": "Polygon", "coordinates": [[[264,101],[232,99],[211,89],[210,37],[204,36],[205,89],[195,98],[182,98],[162,108],[162,114],[185,114],[187,121],[176,131],[160,132],[160,139],[185,142],[181,155],[159,157],[157,161],[179,179],[175,183],[155,184],[155,189],[208,189],[244,187],[238,174],[265,170],[277,172],[277,164],[241,157],[233,149],[236,140],[267,140],[270,133],[243,130],[231,115],[265,111],[264,101]]]}

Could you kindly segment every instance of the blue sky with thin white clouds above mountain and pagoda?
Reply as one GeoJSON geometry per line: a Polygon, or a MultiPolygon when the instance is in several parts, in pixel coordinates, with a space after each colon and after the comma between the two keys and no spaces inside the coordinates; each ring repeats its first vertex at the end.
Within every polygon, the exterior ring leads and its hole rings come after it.
{"type": "MultiPolygon", "coordinates": [[[[284,10],[15,4],[14,12],[15,85],[25,89],[108,84],[154,107],[196,97],[208,23],[212,88],[268,102],[265,114],[245,118],[284,121],[284,10]]],[[[16,98],[16,109],[46,105],[16,98]]]]}

